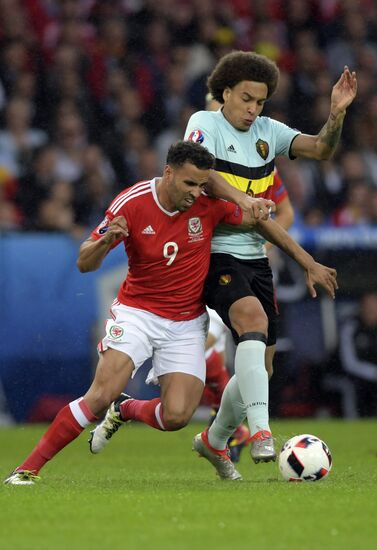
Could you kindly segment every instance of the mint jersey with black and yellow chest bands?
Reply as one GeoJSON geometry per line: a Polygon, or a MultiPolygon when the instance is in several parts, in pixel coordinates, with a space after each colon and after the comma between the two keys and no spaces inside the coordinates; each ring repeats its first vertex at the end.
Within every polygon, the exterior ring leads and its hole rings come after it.
{"type": "MultiPolygon", "coordinates": [[[[233,187],[255,197],[271,198],[275,157],[289,156],[299,134],[282,122],[257,117],[247,132],[236,130],[219,111],[198,111],[187,125],[184,139],[201,143],[216,158],[216,171],[233,187]]],[[[256,231],[218,225],[211,252],[253,260],[265,256],[265,240],[256,231]]]]}

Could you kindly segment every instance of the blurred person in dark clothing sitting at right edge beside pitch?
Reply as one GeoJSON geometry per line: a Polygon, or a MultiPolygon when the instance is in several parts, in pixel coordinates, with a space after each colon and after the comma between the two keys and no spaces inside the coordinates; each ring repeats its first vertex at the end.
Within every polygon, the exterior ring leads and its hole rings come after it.
{"type": "Polygon", "coordinates": [[[353,381],[360,416],[377,416],[377,291],[365,294],[357,314],[340,329],[343,370],[353,381]]]}

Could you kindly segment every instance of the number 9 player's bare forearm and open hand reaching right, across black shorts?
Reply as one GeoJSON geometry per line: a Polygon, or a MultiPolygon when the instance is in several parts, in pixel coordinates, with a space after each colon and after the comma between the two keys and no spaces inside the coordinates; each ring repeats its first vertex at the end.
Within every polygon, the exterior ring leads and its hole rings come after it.
{"type": "Polygon", "coordinates": [[[312,298],[317,296],[315,285],[321,286],[331,298],[335,298],[335,290],[338,288],[336,270],[319,264],[306,252],[287,231],[274,220],[259,221],[255,226],[256,231],[265,239],[278,246],[283,252],[293,258],[304,270],[306,285],[312,298]]]}

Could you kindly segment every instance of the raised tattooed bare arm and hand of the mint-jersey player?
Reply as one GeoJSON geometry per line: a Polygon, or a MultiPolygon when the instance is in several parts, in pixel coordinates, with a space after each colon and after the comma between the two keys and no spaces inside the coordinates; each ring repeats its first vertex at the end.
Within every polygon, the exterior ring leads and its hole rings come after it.
{"type": "Polygon", "coordinates": [[[326,124],[316,136],[299,134],[293,140],[291,153],[296,157],[330,159],[339,143],[346,109],[355,99],[356,93],[356,73],[351,73],[346,66],[332,89],[330,115],[326,124]]]}

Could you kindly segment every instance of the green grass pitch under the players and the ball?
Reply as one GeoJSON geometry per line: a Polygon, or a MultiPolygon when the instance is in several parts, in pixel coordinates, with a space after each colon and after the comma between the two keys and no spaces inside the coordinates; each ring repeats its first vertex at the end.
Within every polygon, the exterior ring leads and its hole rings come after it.
{"type": "MultiPolygon", "coordinates": [[[[175,433],[122,428],[93,456],[88,431],[41,472],[33,487],[0,488],[2,550],[377,548],[377,421],[274,421],[280,446],[313,433],[334,460],[326,480],[288,483],[277,464],[244,452],[243,482],[217,480],[191,451],[202,429],[175,433]]],[[[44,427],[0,429],[5,477],[44,427]]]]}

